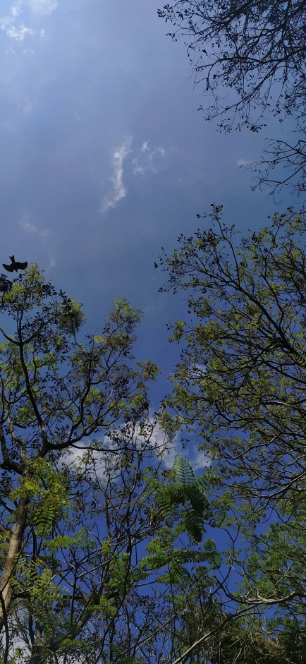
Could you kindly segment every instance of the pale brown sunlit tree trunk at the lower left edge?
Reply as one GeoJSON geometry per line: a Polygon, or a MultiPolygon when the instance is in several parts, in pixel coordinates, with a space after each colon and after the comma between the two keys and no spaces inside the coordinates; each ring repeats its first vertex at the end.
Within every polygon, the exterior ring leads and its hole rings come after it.
{"type": "Polygon", "coordinates": [[[2,631],[4,627],[11,607],[13,594],[12,581],[16,572],[18,554],[20,553],[21,545],[23,543],[23,533],[25,532],[25,524],[27,522],[28,503],[28,498],[20,498],[18,507],[16,508],[15,523],[13,524],[8,539],[8,553],[6,554],[6,562],[4,563],[4,571],[0,583],[0,593],[2,596],[2,601],[0,603],[0,631],[2,631]]]}

